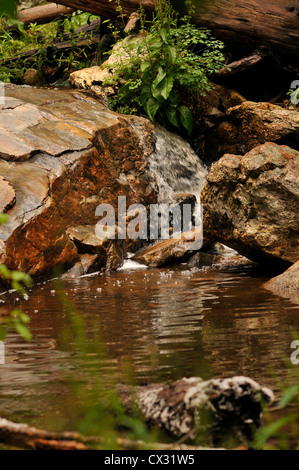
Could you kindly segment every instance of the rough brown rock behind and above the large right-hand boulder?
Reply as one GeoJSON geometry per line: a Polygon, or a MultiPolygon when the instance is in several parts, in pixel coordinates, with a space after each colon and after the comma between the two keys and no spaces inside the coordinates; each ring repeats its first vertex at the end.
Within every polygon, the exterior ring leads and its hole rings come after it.
{"type": "Polygon", "coordinates": [[[271,103],[245,101],[227,110],[227,117],[209,139],[215,160],[225,153],[244,155],[265,142],[299,150],[299,114],[271,103]]]}

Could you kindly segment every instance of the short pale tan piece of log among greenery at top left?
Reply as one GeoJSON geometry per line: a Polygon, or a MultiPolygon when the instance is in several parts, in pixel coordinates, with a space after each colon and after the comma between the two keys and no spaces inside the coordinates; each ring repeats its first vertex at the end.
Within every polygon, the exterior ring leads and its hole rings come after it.
{"type": "Polygon", "coordinates": [[[45,24],[60,18],[65,18],[75,10],[70,7],[49,3],[40,7],[28,8],[18,12],[18,20],[25,26],[30,23],[45,24]]]}

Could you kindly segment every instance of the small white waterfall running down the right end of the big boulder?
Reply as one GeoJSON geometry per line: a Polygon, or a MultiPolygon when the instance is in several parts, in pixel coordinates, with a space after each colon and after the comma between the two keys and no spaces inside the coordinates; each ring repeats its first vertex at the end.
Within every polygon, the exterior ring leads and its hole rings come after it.
{"type": "Polygon", "coordinates": [[[173,202],[173,194],[200,193],[208,171],[191,146],[176,134],[156,125],[156,150],[150,156],[150,169],[159,186],[159,203],[173,202]]]}

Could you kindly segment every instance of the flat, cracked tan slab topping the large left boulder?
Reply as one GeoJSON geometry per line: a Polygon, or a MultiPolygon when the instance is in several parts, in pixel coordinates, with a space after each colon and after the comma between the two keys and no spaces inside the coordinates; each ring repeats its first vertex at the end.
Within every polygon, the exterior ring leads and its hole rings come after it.
{"type": "Polygon", "coordinates": [[[117,122],[104,105],[66,90],[5,88],[0,105],[0,157],[24,161],[92,147],[95,133],[117,122]]]}

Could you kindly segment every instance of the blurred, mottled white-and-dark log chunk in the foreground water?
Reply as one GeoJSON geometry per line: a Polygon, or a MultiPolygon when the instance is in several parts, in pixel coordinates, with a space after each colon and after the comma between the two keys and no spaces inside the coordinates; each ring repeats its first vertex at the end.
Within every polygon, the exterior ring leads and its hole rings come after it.
{"type": "Polygon", "coordinates": [[[151,426],[158,426],[172,436],[194,440],[207,426],[213,438],[238,430],[251,438],[253,428],[261,424],[264,403],[272,403],[271,390],[248,377],[212,379],[183,378],[173,384],[151,384],[137,389],[120,389],[128,411],[132,397],[151,426]],[[201,415],[204,414],[204,422],[201,415]]]}

